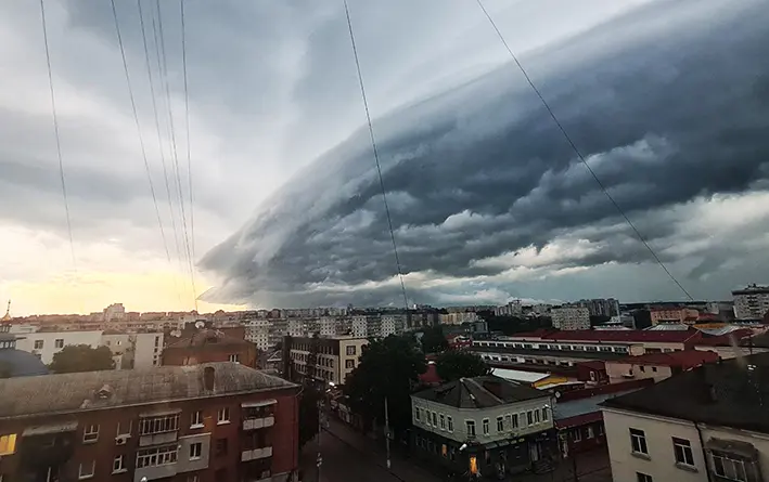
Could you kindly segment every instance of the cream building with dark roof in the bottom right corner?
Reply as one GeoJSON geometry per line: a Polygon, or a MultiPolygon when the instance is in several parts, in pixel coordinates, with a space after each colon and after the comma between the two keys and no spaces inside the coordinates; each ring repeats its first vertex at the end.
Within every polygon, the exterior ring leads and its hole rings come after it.
{"type": "Polygon", "coordinates": [[[769,354],[705,364],[603,403],[617,482],[766,480],[769,354]]]}

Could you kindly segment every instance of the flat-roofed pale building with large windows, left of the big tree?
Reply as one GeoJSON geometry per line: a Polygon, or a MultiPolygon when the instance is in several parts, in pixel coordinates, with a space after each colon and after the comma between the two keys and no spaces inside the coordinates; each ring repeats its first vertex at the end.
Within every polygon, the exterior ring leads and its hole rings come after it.
{"type": "Polygon", "coordinates": [[[344,385],[358,366],[367,338],[356,337],[285,337],[283,340],[283,376],[289,379],[307,377],[344,385]],[[315,354],[316,363],[308,368],[315,354]]]}

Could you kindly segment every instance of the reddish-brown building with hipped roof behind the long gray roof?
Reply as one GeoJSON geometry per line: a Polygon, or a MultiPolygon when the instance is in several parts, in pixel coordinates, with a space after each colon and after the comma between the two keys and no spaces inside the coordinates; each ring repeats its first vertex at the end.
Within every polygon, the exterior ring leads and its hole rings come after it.
{"type": "Polygon", "coordinates": [[[254,343],[228,337],[221,331],[203,329],[192,337],[182,338],[163,350],[163,365],[197,365],[212,362],[234,362],[256,367],[254,343]]]}

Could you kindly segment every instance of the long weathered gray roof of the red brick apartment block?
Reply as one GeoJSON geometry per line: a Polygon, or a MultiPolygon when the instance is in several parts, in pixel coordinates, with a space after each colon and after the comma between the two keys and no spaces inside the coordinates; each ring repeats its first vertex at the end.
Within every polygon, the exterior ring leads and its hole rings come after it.
{"type": "Polygon", "coordinates": [[[11,378],[0,380],[0,419],[294,387],[298,386],[230,362],[11,378]],[[203,383],[205,367],[215,369],[213,391],[203,383]],[[97,396],[104,388],[110,395],[97,396]]]}

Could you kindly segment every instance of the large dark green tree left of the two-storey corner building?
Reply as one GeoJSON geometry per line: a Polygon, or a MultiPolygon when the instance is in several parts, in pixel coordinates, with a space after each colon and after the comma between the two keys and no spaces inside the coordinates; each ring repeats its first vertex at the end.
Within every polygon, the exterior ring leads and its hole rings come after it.
{"type": "Polygon", "coordinates": [[[351,408],[367,425],[384,422],[387,398],[389,425],[396,434],[411,426],[411,390],[426,369],[424,354],[412,337],[390,335],[363,347],[358,367],[345,383],[351,408]]]}

